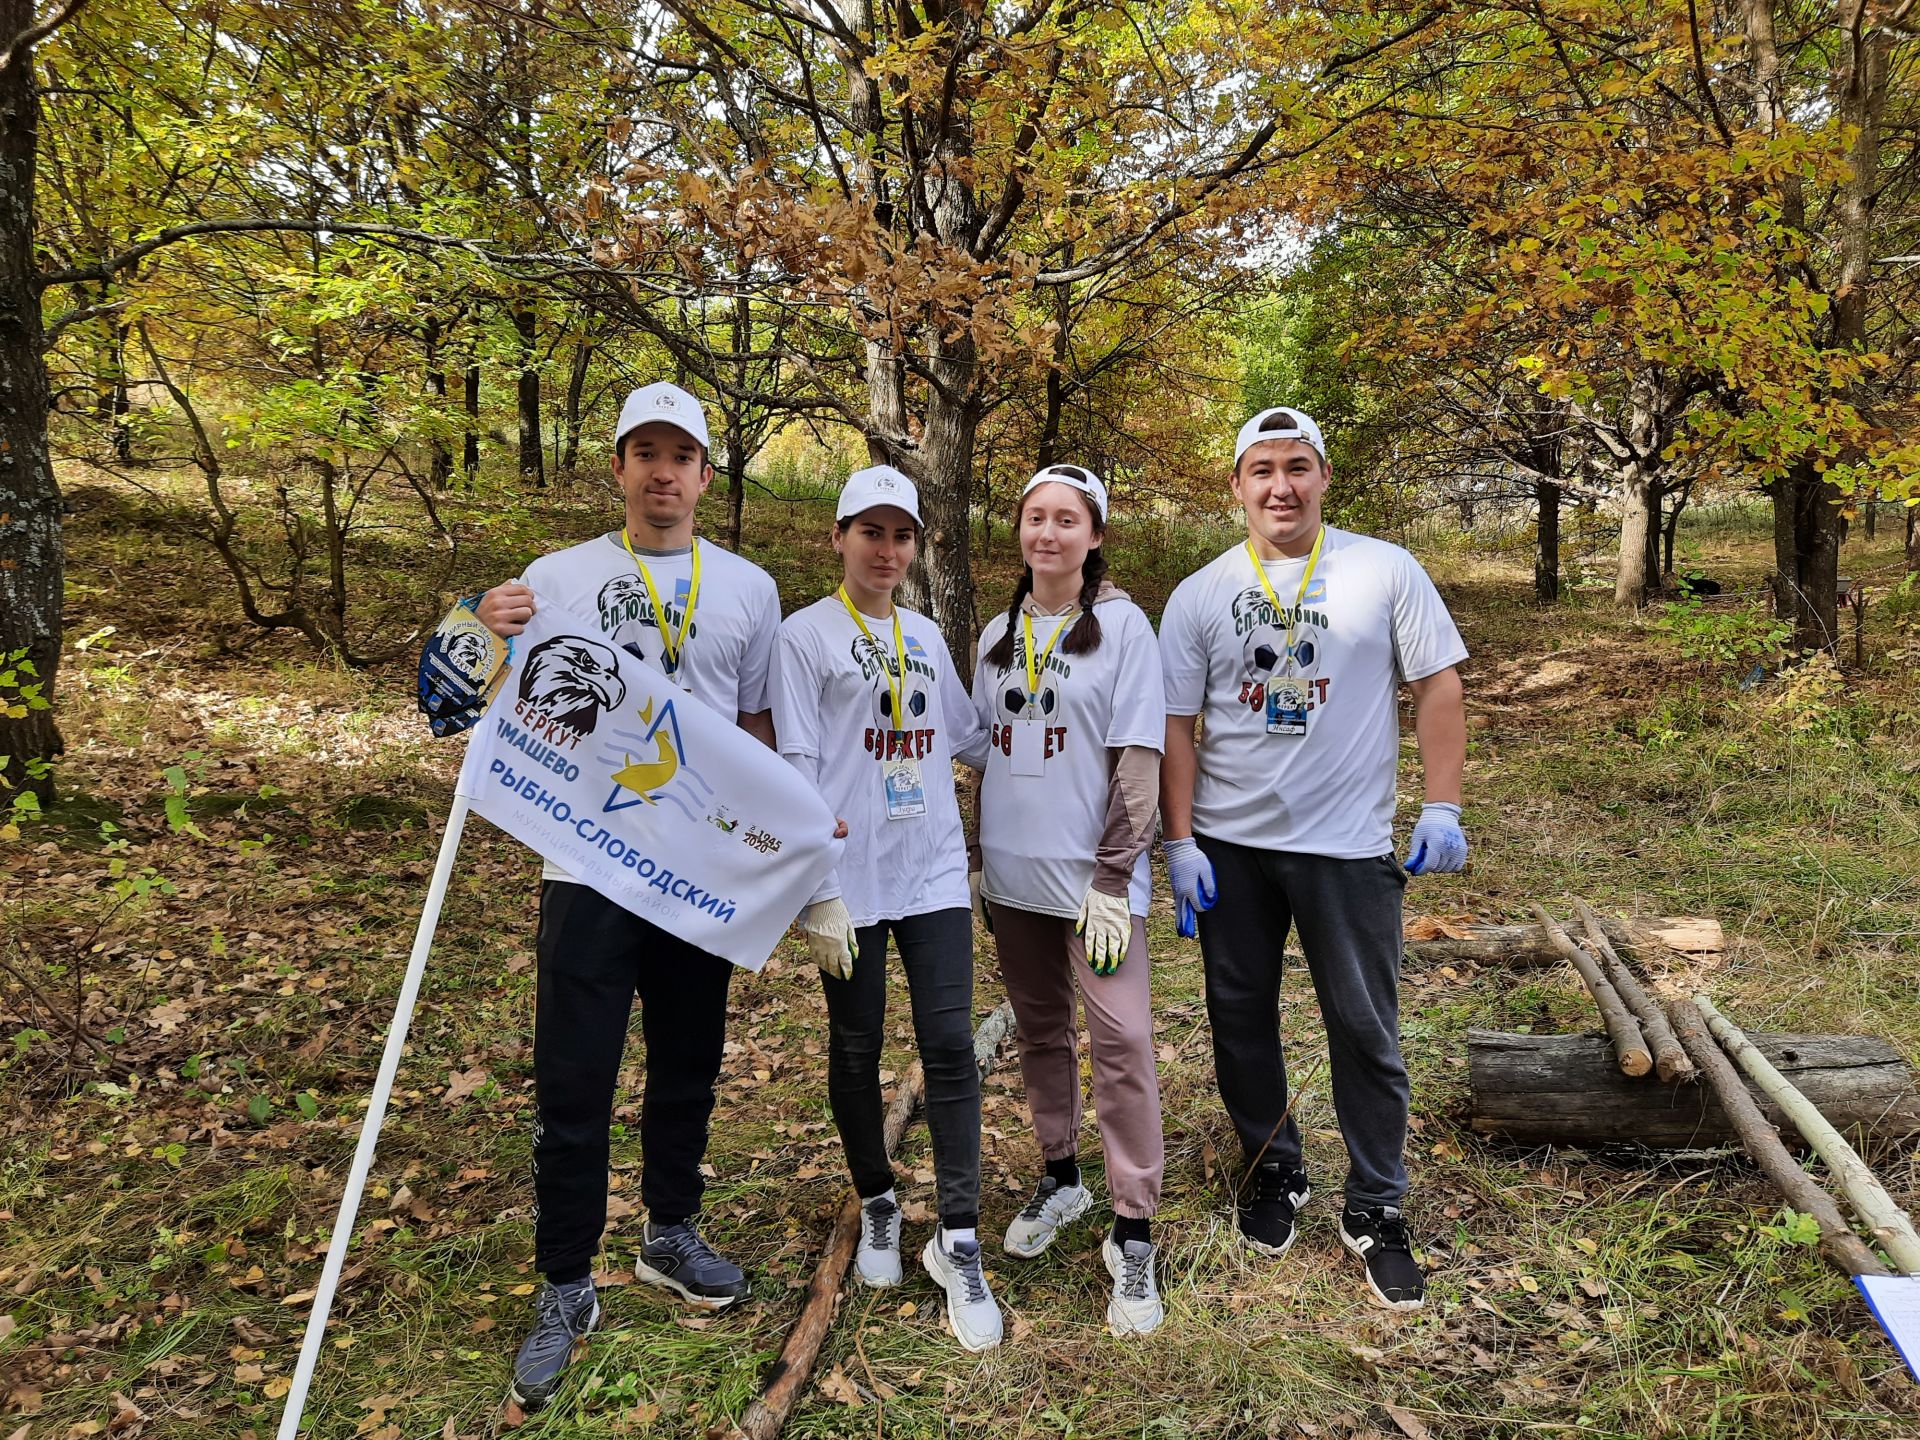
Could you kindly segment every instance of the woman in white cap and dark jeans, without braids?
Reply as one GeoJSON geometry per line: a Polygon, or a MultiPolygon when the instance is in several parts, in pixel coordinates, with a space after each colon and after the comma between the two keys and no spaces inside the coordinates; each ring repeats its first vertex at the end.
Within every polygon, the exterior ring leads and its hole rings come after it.
{"type": "Polygon", "coordinates": [[[968,1350],[1000,1344],[979,1246],[973,918],[952,762],[985,733],[939,628],[893,603],[920,543],[920,495],[891,465],[854,470],[835,507],[841,586],[787,616],[774,657],[780,753],[847,822],[839,868],[801,927],[828,996],[828,1104],[860,1192],[862,1284],[902,1279],[900,1206],[881,1135],[891,935],[927,1077],[939,1225],[920,1252],[968,1350]]]}

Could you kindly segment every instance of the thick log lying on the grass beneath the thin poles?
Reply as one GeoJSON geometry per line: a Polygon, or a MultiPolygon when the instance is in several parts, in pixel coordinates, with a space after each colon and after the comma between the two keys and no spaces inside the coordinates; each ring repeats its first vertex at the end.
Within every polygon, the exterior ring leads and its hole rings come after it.
{"type": "MultiPolygon", "coordinates": [[[[1782,1073],[1841,1131],[1870,1148],[1920,1135],[1920,1085],[1899,1052],[1862,1035],[1753,1035],[1782,1073]]],[[[1703,1085],[1620,1073],[1605,1035],[1467,1033],[1473,1129],[1523,1144],[1644,1144],[1655,1150],[1740,1139],[1703,1085]]],[[[1766,1123],[1801,1144],[1793,1121],[1757,1096],[1766,1123]]]]}

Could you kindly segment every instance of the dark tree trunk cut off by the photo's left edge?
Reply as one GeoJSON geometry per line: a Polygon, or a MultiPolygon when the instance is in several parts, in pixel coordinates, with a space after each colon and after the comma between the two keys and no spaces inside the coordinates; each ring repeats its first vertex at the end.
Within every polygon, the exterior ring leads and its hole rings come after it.
{"type": "MultiPolygon", "coordinates": [[[[0,36],[33,25],[33,0],[0,0],[0,36]]],[[[54,726],[60,668],[65,553],[60,480],[46,447],[46,365],[40,359],[40,288],[33,263],[33,186],[40,96],[33,48],[0,67],[0,666],[23,655],[36,672],[42,708],[10,718],[0,710],[0,806],[15,789],[54,799],[42,766],[63,749],[54,726]]],[[[8,693],[12,705],[19,697],[8,693]]]]}

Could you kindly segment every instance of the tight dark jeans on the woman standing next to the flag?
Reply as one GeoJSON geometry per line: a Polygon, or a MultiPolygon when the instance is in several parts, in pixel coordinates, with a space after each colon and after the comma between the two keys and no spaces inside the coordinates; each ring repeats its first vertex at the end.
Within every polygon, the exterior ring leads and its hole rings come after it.
{"type": "Polygon", "coordinates": [[[979,1069],[973,1064],[973,914],[933,910],[854,931],[852,979],[828,993],[828,1100],[862,1198],[893,1188],[881,1135],[879,1050],[887,1039],[887,933],[900,950],[914,1041],[927,1075],[927,1131],[941,1223],[979,1223],[979,1069]]]}

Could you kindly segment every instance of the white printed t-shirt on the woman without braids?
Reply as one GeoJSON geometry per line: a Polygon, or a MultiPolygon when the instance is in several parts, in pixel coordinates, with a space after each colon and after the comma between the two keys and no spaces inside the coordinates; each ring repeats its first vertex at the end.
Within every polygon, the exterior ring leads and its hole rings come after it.
{"type": "Polygon", "coordinates": [[[854,925],[968,904],[952,762],[977,766],[985,758],[985,737],[939,628],[914,611],[899,614],[906,645],[902,726],[893,720],[893,685],[887,684],[899,668],[891,618],[866,616],[868,639],[839,595],[828,595],[789,614],[774,645],[772,707],[780,753],[847,822],[839,872],[814,899],[837,893],[854,925]],[[927,808],[889,820],[883,766],[900,756],[920,762],[927,808]]]}

